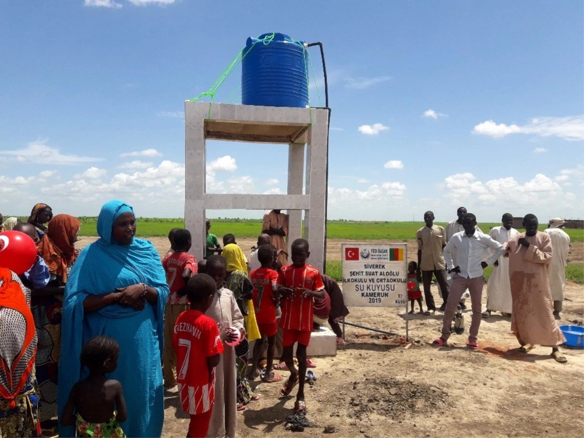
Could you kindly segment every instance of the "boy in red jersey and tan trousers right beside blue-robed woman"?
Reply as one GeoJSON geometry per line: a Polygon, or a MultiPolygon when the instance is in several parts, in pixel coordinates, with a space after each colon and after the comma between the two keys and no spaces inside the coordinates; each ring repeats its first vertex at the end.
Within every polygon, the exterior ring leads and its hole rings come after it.
{"type": "Polygon", "coordinates": [[[162,354],[162,377],[164,387],[176,386],[176,354],[172,349],[172,336],[175,321],[187,310],[186,284],[190,276],[197,273],[197,260],[189,254],[190,232],[184,228],[176,228],[171,242],[173,252],[162,260],[166,272],[166,283],[171,289],[164,311],[164,352],[162,354]]]}

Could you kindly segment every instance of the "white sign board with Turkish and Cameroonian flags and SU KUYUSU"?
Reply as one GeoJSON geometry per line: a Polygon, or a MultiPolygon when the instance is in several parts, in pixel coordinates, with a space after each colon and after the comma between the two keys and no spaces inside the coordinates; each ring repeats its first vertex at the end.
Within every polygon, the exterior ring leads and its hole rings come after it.
{"type": "Polygon", "coordinates": [[[406,244],[342,244],[345,305],[406,307],[407,249],[406,244]]]}

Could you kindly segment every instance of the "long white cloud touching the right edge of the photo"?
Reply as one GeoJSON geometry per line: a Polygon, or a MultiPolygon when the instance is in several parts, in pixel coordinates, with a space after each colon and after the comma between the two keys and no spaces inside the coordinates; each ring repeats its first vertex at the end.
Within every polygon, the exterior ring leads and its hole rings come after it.
{"type": "Polygon", "coordinates": [[[523,126],[496,124],[492,120],[479,123],[474,134],[505,137],[509,134],[534,134],[540,137],[559,137],[568,141],[584,140],[584,115],[568,117],[537,117],[523,126]]]}

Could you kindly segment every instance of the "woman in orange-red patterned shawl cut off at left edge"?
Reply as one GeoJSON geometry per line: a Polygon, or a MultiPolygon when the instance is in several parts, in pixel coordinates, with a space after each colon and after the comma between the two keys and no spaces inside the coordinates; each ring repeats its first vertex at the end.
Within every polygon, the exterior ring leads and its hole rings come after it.
{"type": "Polygon", "coordinates": [[[34,390],[37,336],[30,291],[0,267],[0,436],[30,438],[40,433],[34,390]]]}

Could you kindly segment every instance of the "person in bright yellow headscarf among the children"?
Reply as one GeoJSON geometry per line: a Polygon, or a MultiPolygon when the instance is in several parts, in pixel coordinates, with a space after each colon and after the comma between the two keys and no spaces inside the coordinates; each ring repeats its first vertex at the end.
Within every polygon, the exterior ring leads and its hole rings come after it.
{"type": "MultiPolygon", "coordinates": [[[[255,319],[255,310],[253,309],[253,285],[249,281],[247,274],[246,260],[244,252],[235,243],[235,237],[227,234],[223,238],[223,252],[221,256],[227,262],[227,278],[225,279],[225,287],[233,292],[235,300],[239,305],[239,310],[244,315],[244,326],[247,333],[247,340],[259,339],[258,323],[255,319]],[[231,242],[231,243],[229,243],[231,242]]],[[[250,401],[259,399],[258,395],[254,395],[251,385],[247,377],[248,373],[248,357],[249,349],[238,351],[235,365],[237,366],[237,408],[242,411],[245,409],[250,401]],[[246,351],[247,350],[247,351],[246,351]]]]}

